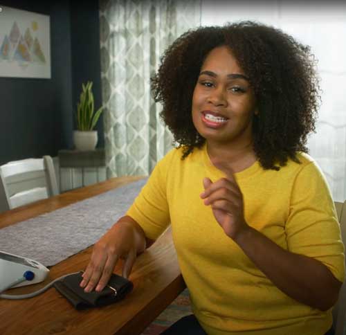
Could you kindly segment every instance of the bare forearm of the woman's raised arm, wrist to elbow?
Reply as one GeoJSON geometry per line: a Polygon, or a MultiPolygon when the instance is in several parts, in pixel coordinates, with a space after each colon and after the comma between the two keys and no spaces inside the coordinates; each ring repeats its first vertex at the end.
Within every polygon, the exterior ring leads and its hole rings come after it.
{"type": "Polygon", "coordinates": [[[251,227],[234,240],[287,296],[322,311],[335,304],[342,283],[318,260],[286,251],[251,227]]]}

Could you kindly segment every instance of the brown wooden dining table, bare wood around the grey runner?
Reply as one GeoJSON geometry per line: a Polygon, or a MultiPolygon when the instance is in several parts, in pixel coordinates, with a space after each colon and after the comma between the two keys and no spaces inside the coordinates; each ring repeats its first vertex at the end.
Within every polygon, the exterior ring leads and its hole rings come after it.
{"type": "MultiPolygon", "coordinates": [[[[68,206],[140,178],[142,177],[113,178],[3,212],[0,214],[0,228],[68,206]]],[[[44,282],[10,289],[6,293],[30,293],[61,275],[84,269],[89,262],[91,250],[92,247],[87,248],[53,266],[44,282]]],[[[120,266],[121,264],[117,265],[116,273],[121,273],[120,266]]],[[[76,311],[54,288],[26,300],[0,299],[0,334],[140,334],[185,289],[170,230],[138,256],[129,279],[134,282],[134,290],[125,300],[84,311],[76,311]]]]}

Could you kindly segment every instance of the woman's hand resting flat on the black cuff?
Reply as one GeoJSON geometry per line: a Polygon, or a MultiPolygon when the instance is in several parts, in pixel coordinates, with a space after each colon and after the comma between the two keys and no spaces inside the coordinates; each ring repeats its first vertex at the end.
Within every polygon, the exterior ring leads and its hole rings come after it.
{"type": "Polygon", "coordinates": [[[143,229],[131,219],[122,217],[93,247],[91,260],[80,282],[85,292],[102,291],[120,258],[124,260],[122,276],[127,278],[138,253],[145,250],[143,229]]]}

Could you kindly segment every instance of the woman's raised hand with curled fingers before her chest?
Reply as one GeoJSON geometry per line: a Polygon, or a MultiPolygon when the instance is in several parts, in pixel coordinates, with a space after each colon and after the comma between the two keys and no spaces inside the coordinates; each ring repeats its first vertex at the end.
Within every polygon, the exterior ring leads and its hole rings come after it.
{"type": "Polygon", "coordinates": [[[244,219],[243,195],[233,175],[221,178],[214,183],[209,178],[203,179],[204,192],[201,198],[206,206],[210,205],[212,213],[228,237],[235,239],[248,228],[244,219]]]}

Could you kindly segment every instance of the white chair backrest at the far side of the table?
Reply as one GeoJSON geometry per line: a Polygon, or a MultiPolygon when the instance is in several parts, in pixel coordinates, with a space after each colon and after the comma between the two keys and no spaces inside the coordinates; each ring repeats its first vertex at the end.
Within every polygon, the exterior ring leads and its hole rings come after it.
{"type": "Polygon", "coordinates": [[[59,194],[51,156],[0,166],[0,212],[59,194]]]}

